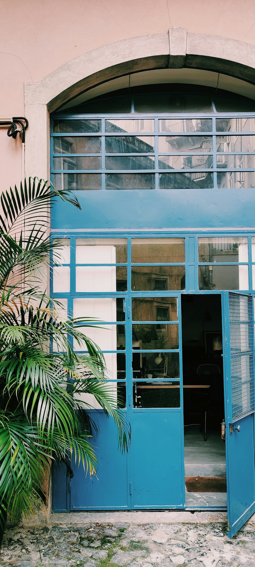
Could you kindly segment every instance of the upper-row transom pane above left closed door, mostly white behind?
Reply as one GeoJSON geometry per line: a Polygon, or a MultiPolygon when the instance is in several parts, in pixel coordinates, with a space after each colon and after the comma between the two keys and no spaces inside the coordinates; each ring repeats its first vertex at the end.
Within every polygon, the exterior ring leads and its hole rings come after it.
{"type": "Polygon", "coordinates": [[[76,264],[124,264],[126,238],[76,238],[76,264]]]}

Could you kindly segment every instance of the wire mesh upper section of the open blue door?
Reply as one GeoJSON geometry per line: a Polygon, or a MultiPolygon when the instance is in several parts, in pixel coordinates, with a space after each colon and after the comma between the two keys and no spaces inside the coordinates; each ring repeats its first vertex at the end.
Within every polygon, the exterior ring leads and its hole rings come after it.
{"type": "Polygon", "coordinates": [[[253,297],[229,293],[231,422],[254,412],[253,297]]]}

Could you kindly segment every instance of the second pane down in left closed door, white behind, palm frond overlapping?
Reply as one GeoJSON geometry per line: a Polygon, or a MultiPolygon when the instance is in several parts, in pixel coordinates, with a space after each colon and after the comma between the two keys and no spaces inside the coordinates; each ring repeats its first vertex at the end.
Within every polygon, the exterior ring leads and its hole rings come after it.
{"type": "MultiPolygon", "coordinates": [[[[125,325],[103,325],[99,321],[98,326],[80,327],[79,331],[91,338],[101,350],[117,350],[120,345],[120,350],[125,349],[125,325]]],[[[85,344],[79,345],[79,341],[74,339],[74,350],[86,351],[87,347],[85,344]]]]}

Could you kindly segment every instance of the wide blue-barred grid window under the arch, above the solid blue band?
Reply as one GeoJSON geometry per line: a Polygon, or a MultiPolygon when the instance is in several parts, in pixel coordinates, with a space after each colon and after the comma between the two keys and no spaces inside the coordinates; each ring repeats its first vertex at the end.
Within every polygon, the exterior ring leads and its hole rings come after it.
{"type": "Polygon", "coordinates": [[[54,185],[74,191],[255,187],[255,113],[135,116],[53,119],[54,185]]]}

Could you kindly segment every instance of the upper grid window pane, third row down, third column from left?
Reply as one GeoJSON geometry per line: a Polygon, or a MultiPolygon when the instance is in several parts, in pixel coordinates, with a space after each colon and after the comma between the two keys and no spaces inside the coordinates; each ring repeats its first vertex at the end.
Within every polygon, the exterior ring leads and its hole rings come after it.
{"type": "Polygon", "coordinates": [[[213,167],[212,155],[159,155],[160,170],[208,170],[210,167],[213,167]]]}

